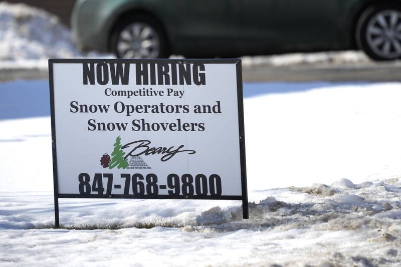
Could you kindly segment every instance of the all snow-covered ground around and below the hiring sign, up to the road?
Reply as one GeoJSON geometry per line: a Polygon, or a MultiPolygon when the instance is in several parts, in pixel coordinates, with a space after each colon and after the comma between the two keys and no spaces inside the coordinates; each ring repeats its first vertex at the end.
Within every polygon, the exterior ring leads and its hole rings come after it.
{"type": "Polygon", "coordinates": [[[54,220],[50,119],[0,121],[0,265],[399,266],[401,83],[244,95],[249,220],[240,201],[60,199],[67,225],[178,228],[38,229],[54,220]]]}

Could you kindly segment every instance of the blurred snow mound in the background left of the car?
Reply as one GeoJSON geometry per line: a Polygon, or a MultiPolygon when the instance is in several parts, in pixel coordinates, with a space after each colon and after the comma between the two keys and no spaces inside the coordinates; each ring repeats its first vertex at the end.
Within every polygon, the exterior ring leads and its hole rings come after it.
{"type": "Polygon", "coordinates": [[[0,40],[0,61],[9,67],[81,55],[57,17],[24,4],[0,3],[0,40]]]}

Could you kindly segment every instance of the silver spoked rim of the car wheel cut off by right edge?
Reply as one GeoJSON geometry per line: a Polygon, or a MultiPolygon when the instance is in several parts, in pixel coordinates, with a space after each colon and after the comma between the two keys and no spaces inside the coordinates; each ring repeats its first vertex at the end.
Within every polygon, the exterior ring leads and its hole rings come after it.
{"type": "Polygon", "coordinates": [[[370,49],[385,59],[401,56],[401,13],[385,10],[373,16],[366,28],[370,49]]]}

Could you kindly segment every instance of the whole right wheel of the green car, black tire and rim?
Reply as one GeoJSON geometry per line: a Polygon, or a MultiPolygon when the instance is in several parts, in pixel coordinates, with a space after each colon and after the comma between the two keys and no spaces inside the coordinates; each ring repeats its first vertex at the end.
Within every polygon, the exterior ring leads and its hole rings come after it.
{"type": "Polygon", "coordinates": [[[373,60],[401,58],[401,5],[381,4],[367,8],[356,24],[356,42],[373,60]]]}

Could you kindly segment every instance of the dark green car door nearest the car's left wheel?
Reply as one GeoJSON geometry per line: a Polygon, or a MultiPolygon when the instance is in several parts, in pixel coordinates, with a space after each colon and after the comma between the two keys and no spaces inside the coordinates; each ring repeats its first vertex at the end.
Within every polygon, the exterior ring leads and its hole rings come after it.
{"type": "Polygon", "coordinates": [[[236,41],[242,37],[242,5],[243,0],[177,0],[174,31],[180,50],[199,56],[235,51],[236,41]]]}

